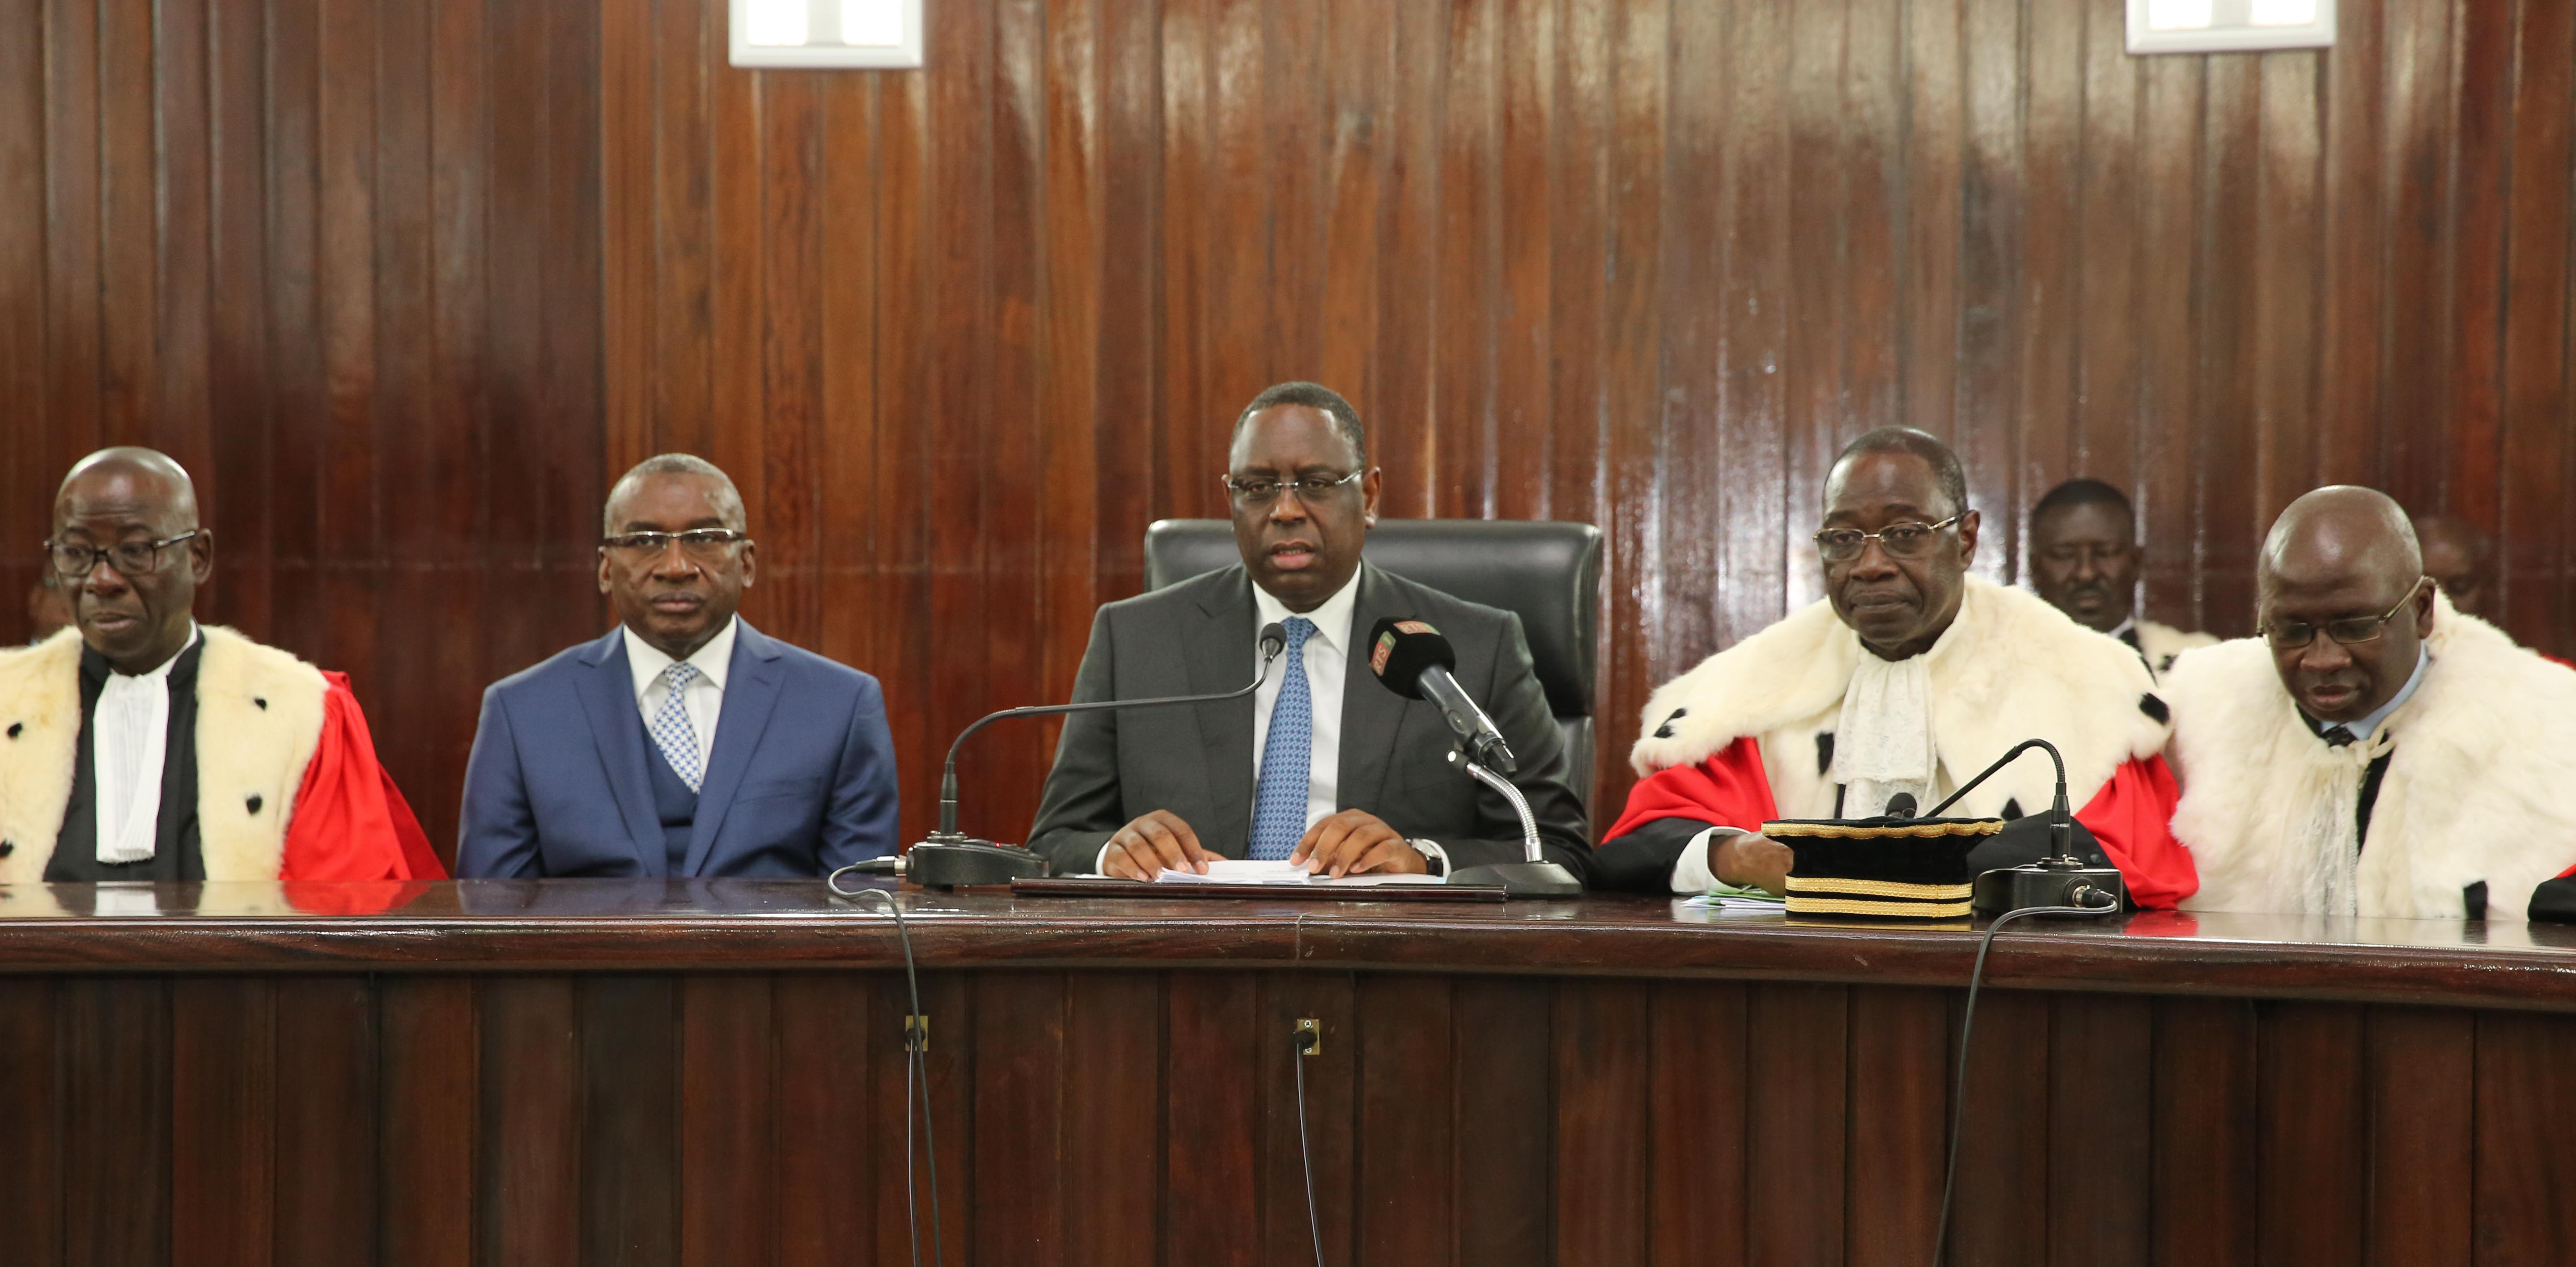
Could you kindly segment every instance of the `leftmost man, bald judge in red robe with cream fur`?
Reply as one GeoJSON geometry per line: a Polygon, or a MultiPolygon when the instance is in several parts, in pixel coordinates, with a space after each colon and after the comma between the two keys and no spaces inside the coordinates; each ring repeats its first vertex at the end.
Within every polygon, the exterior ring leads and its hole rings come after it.
{"type": "Polygon", "coordinates": [[[46,567],[72,628],[0,652],[0,883],[443,878],[348,677],[196,623],[175,461],[80,458],[46,567]]]}

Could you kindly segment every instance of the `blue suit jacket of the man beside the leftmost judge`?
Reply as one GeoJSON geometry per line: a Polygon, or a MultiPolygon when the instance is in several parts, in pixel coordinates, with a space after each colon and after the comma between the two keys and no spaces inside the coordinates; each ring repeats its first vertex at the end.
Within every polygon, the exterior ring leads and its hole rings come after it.
{"type": "MultiPolygon", "coordinates": [[[[626,639],[484,690],[459,878],[667,876],[626,639]]],[[[894,852],[894,734],[876,677],[744,621],[680,876],[822,876],[894,852]]]]}

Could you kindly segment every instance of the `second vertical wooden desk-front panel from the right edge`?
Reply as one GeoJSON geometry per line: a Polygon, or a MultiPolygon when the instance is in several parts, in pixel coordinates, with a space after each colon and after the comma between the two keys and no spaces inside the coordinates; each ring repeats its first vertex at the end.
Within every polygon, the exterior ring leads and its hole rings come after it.
{"type": "Polygon", "coordinates": [[[2468,1264],[2478,1213],[2478,1025],[2463,1015],[2372,1007],[2362,1028],[2357,1064],[2370,1115],[2362,1262],[2468,1264]]]}

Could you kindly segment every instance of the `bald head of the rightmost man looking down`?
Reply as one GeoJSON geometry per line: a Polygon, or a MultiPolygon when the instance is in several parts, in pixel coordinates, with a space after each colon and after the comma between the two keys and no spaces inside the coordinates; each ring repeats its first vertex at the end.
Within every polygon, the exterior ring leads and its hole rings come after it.
{"type": "Polygon", "coordinates": [[[2254,579],[2272,662],[2311,718],[2360,721],[2414,677],[2434,603],[2388,494],[2339,484],[2290,502],[2254,579]]]}

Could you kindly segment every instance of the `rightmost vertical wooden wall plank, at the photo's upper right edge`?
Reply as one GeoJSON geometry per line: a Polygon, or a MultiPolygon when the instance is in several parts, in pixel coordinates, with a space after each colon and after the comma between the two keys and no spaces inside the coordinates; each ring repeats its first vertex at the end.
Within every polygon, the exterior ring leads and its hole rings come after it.
{"type": "Polygon", "coordinates": [[[2504,623],[2553,654],[2568,652],[2566,497],[2568,420],[2568,165],[2576,8],[2522,5],[2514,46],[2514,155],[2504,283],[2504,464],[2499,569],[2504,623]],[[2540,634],[2545,631],[2545,634],[2540,634]]]}

